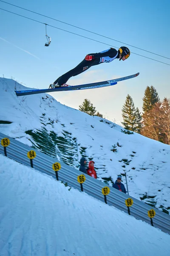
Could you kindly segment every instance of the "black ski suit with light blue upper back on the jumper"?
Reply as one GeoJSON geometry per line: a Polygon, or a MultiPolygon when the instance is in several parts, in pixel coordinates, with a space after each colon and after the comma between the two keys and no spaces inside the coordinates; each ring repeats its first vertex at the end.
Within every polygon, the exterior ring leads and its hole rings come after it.
{"type": "Polygon", "coordinates": [[[89,53],[88,55],[93,55],[94,59],[91,61],[86,61],[84,58],[84,60],[80,62],[77,67],[74,67],[74,69],[57,78],[54,84],[57,84],[57,82],[59,85],[65,84],[72,76],[77,76],[92,66],[101,64],[103,62],[111,62],[115,58],[119,58],[119,52],[114,48],[110,48],[103,52],[89,53]]]}

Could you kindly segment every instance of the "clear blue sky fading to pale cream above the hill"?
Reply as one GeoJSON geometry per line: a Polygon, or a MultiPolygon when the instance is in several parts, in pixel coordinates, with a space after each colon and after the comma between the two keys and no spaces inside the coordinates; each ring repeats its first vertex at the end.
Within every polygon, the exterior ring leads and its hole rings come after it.
{"type": "MultiPolygon", "coordinates": [[[[170,58],[169,0],[8,0],[8,3],[56,18],[74,26],[170,58]]],[[[74,32],[118,49],[122,44],[66,24],[35,15],[0,2],[0,8],[74,32]]],[[[13,77],[27,87],[46,88],[57,77],[74,68],[89,52],[100,52],[109,46],[47,27],[51,45],[45,47],[45,25],[0,10],[0,76],[13,77]]],[[[129,47],[131,52],[170,64],[170,60],[129,47]]],[[[53,93],[61,103],[79,108],[85,98],[110,120],[122,120],[122,105],[127,94],[142,111],[142,98],[147,86],[153,85],[160,98],[170,98],[170,66],[131,54],[126,61],[113,61],[92,67],[71,78],[68,84],[90,83],[140,72],[139,77],[114,87],[81,92],[53,93]]]]}

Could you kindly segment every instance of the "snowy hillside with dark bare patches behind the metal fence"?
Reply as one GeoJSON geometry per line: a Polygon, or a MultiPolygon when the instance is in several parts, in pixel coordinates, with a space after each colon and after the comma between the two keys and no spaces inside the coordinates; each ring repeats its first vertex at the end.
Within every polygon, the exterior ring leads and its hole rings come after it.
{"type": "Polygon", "coordinates": [[[0,132],[75,168],[82,156],[93,159],[98,179],[108,185],[126,171],[131,196],[170,212],[170,145],[125,134],[121,126],[62,105],[48,94],[15,95],[14,90],[24,89],[29,88],[0,79],[0,132]]]}

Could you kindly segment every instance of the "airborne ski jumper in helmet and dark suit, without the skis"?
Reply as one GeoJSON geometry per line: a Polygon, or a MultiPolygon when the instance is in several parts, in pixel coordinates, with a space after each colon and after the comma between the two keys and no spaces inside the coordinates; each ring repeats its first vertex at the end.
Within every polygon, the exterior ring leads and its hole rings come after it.
{"type": "Polygon", "coordinates": [[[115,59],[119,59],[119,61],[125,61],[130,56],[130,50],[126,46],[121,46],[119,50],[114,48],[110,48],[104,50],[102,52],[97,53],[89,53],[85,56],[82,62],[80,62],[77,67],[68,71],[64,75],[57,78],[53,84],[50,84],[49,88],[61,87],[61,86],[68,86],[66,82],[72,76],[77,76],[82,72],[88,70],[90,67],[101,64],[101,63],[109,63],[115,59]]]}

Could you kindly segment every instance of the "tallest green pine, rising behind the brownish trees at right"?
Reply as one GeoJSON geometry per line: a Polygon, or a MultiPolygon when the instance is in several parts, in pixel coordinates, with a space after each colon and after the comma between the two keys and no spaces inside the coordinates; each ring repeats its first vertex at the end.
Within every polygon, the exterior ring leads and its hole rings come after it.
{"type": "Polygon", "coordinates": [[[159,96],[156,89],[153,86],[147,86],[143,97],[143,112],[150,111],[156,102],[159,102],[159,96]]]}

